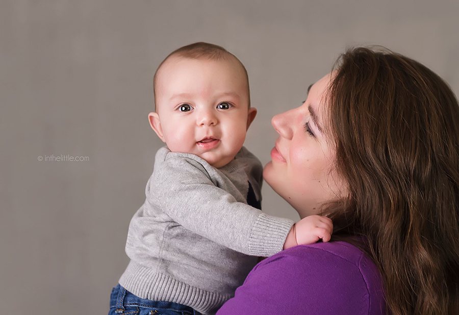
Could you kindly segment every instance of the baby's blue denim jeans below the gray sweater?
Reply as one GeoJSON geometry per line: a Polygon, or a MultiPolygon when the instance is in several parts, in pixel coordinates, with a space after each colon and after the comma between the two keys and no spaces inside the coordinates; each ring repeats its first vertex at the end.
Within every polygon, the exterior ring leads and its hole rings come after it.
{"type": "Polygon", "coordinates": [[[179,303],[141,299],[117,285],[110,295],[109,315],[201,315],[179,303]]]}

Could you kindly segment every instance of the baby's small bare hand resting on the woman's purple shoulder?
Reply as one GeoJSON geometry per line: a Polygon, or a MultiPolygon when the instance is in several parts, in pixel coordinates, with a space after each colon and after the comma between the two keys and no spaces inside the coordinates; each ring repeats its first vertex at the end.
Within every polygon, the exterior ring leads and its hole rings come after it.
{"type": "Polygon", "coordinates": [[[295,223],[284,244],[284,249],[314,244],[319,239],[326,242],[331,238],[333,223],[326,216],[310,215],[295,223]]]}

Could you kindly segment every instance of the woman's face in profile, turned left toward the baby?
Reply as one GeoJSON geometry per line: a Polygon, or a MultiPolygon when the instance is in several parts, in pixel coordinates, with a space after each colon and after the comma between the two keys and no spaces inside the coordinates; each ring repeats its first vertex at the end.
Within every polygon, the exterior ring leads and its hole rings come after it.
{"type": "Polygon", "coordinates": [[[345,193],[334,167],[334,141],[323,116],[323,95],[330,79],[328,74],[313,84],[300,107],[272,118],[279,137],[263,177],[301,217],[318,213],[324,202],[345,193]]]}

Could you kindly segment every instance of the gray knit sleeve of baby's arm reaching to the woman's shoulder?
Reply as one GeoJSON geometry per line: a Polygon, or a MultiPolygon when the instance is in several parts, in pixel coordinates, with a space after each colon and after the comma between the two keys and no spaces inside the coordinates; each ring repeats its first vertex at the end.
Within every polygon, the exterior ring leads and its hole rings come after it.
{"type": "Polygon", "coordinates": [[[247,255],[271,256],[283,250],[293,221],[237,202],[193,159],[170,158],[161,166],[156,194],[173,221],[247,255]]]}

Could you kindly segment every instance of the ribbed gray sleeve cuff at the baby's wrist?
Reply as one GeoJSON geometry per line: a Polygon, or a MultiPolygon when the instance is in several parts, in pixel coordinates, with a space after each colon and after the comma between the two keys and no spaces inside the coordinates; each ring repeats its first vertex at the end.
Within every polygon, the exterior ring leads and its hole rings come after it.
{"type": "Polygon", "coordinates": [[[249,255],[268,257],[282,251],[293,224],[292,220],[261,213],[250,233],[249,255]]]}

